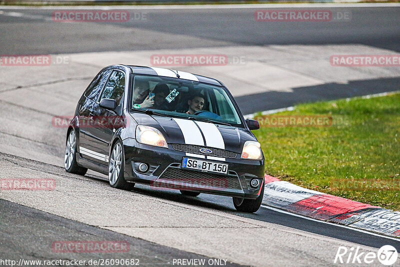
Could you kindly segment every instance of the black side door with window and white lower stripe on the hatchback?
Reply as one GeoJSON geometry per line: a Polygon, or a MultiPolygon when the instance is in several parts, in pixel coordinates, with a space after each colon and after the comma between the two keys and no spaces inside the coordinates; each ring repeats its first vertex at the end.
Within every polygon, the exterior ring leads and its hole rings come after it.
{"type": "Polygon", "coordinates": [[[97,103],[89,112],[89,121],[92,126],[88,127],[86,136],[89,147],[92,149],[87,152],[90,153],[91,160],[98,163],[108,164],[108,145],[114,131],[114,123],[118,121],[121,114],[124,90],[125,73],[118,69],[112,70],[97,103]],[[117,107],[114,110],[101,107],[99,102],[103,98],[116,100],[117,107]]]}

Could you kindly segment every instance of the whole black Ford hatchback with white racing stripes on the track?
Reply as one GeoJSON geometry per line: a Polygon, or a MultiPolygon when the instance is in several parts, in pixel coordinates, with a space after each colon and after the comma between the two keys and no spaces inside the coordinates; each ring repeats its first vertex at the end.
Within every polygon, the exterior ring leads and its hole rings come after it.
{"type": "Polygon", "coordinates": [[[196,196],[232,196],[255,212],[264,191],[264,157],[227,88],[218,80],[165,68],[111,65],[91,81],[67,130],[65,169],[108,175],[196,196]]]}

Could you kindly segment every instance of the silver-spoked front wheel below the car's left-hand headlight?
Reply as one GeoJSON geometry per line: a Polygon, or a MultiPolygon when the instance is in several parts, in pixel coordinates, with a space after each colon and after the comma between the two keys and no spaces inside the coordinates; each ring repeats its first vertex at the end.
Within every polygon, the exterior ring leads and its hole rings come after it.
{"type": "Polygon", "coordinates": [[[123,153],[122,143],[117,140],[111,149],[108,161],[108,181],[109,185],[114,188],[131,190],[134,183],[127,182],[123,177],[125,156],[123,153]]]}

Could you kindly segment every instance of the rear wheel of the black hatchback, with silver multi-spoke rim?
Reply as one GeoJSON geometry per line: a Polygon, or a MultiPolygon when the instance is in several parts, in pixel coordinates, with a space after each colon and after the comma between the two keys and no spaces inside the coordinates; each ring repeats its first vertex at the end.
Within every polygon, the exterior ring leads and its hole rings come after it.
{"type": "Polygon", "coordinates": [[[84,175],[87,168],[81,167],[76,162],[76,134],[75,130],[71,129],[68,133],[68,138],[65,144],[64,167],[66,172],[84,175]]]}

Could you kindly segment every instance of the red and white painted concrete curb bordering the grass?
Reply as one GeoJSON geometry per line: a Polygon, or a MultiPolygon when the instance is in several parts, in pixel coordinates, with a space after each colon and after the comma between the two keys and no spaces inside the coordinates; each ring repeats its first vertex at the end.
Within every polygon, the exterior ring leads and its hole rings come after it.
{"type": "Polygon", "coordinates": [[[264,178],[264,205],[314,219],[400,237],[399,211],[306,189],[267,174],[264,178]]]}

